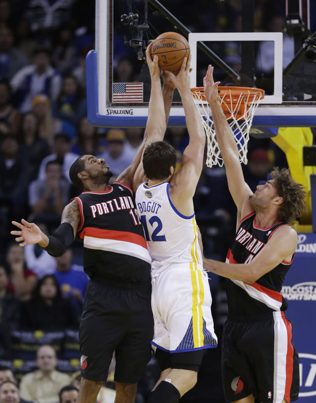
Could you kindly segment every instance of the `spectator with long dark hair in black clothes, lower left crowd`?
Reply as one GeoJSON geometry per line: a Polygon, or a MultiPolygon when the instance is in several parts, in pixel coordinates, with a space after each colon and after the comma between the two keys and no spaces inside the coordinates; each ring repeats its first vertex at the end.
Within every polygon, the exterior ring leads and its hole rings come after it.
{"type": "Polygon", "coordinates": [[[32,299],[21,305],[20,326],[29,330],[78,328],[75,308],[69,299],[62,298],[56,277],[39,280],[32,299]]]}

